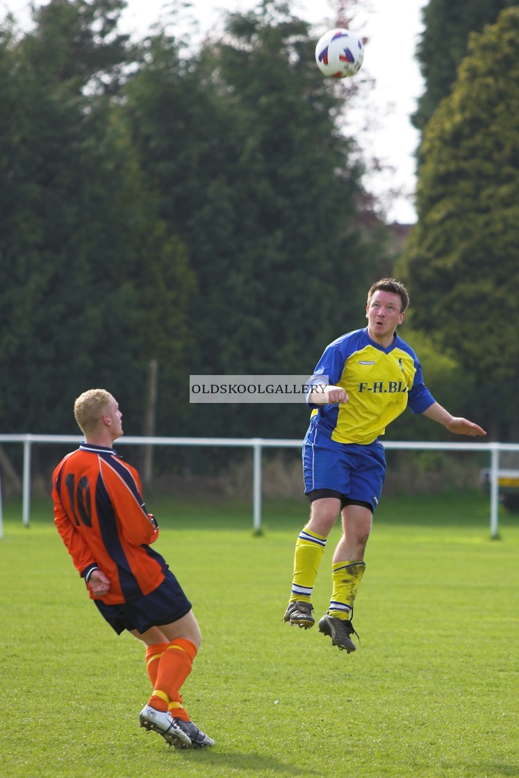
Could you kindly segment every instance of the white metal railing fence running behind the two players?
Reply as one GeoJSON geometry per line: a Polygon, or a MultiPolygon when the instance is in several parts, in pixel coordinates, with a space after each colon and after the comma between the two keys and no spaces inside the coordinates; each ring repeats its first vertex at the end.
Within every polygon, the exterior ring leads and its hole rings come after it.
{"type": "MultiPolygon", "coordinates": [[[[30,524],[30,454],[33,443],[80,443],[79,435],[0,434],[0,443],[23,443],[23,503],[22,521],[30,524]]],[[[261,452],[264,448],[300,448],[302,440],[275,438],[188,438],[188,437],[130,437],[123,436],[116,446],[212,446],[242,447],[253,450],[252,513],[254,531],[261,530],[261,452]]],[[[501,451],[519,451],[519,443],[428,443],[425,441],[384,441],[387,450],[486,451],[490,455],[490,536],[499,534],[499,468],[501,451]]],[[[3,535],[2,489],[0,484],[0,538],[3,535]]]]}

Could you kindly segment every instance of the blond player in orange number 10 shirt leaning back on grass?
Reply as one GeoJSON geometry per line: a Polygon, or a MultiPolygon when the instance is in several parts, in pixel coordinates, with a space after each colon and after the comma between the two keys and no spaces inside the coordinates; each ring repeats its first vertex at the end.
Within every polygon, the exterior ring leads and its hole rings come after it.
{"type": "Polygon", "coordinates": [[[117,401],[104,389],[90,389],[75,401],[74,415],[85,443],[54,470],[58,532],[103,618],[118,635],[127,629],[146,644],[153,694],[141,726],[175,748],[212,746],[181,697],[202,636],[181,585],[150,548],[159,527],[146,511],[139,473],[113,448],[122,435],[117,401]]]}

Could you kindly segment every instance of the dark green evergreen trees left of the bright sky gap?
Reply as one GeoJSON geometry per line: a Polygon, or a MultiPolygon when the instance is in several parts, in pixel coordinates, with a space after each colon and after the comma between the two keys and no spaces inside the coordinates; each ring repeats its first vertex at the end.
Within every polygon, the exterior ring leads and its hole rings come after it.
{"type": "MultiPolygon", "coordinates": [[[[191,373],[311,373],[362,326],[384,225],[337,128],[349,89],[277,0],[193,51],[123,0],[0,30],[0,428],[76,431],[86,387],[142,433],[300,436],[304,406],[189,405],[191,373]]],[[[385,265],[384,265],[385,263],[385,265]]]]}

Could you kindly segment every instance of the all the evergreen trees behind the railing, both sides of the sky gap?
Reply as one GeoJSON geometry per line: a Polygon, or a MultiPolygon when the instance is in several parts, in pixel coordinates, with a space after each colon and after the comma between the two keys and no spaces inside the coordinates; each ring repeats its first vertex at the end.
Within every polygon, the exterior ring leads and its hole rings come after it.
{"type": "MultiPolygon", "coordinates": [[[[340,130],[356,81],[321,78],[308,24],[279,0],[196,50],[164,30],[129,40],[124,5],[51,0],[30,32],[0,28],[0,429],[74,433],[72,402],[96,385],[142,433],[156,360],[156,434],[301,436],[304,407],[189,405],[188,377],[310,373],[363,325],[366,289],[393,268],[340,130]]],[[[434,394],[503,440],[519,369],[506,5],[457,3],[456,25],[451,4],[426,6],[419,223],[395,271],[434,394]]],[[[404,417],[391,435],[434,427],[404,417]]]]}

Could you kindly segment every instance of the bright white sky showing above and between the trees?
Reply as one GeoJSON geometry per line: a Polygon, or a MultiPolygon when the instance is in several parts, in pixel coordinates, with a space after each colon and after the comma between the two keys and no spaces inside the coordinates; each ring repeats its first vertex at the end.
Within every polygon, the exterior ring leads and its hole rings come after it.
{"type": "MultiPolygon", "coordinates": [[[[33,0],[35,5],[44,5],[33,0]]],[[[222,9],[244,12],[258,5],[259,0],[190,0],[191,16],[198,20],[202,33],[214,30],[222,9]]],[[[419,33],[422,30],[421,9],[427,0],[366,0],[362,11],[356,12],[352,32],[367,37],[363,68],[355,78],[365,74],[375,85],[352,114],[349,129],[366,154],[376,156],[389,170],[371,173],[366,181],[387,214],[388,221],[416,221],[412,205],[415,188],[414,152],[419,135],[412,128],[409,116],[416,109],[416,99],[423,92],[423,80],[414,59],[419,33]],[[366,126],[367,124],[367,126],[366,126]],[[402,195],[394,197],[390,190],[402,195]]],[[[169,8],[173,4],[170,3],[169,8]]],[[[331,9],[325,0],[290,0],[294,13],[315,26],[315,40],[335,26],[331,9]]],[[[11,11],[19,25],[28,24],[27,0],[0,0],[0,16],[11,11]]],[[[142,35],[161,17],[169,16],[167,0],[128,0],[122,19],[122,30],[142,35]]]]}

